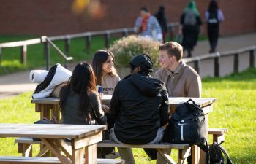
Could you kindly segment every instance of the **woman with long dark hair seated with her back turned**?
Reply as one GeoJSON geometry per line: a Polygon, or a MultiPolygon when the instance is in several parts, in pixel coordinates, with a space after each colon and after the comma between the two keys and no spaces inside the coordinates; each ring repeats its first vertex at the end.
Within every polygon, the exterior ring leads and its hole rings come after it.
{"type": "Polygon", "coordinates": [[[107,124],[96,90],[91,66],[86,62],[78,63],[69,82],[61,89],[60,106],[64,124],[107,124]]]}

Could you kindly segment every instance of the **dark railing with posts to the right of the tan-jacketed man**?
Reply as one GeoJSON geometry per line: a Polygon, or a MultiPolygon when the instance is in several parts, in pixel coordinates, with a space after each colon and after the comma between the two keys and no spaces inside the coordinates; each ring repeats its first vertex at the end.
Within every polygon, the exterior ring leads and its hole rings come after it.
{"type": "Polygon", "coordinates": [[[225,51],[225,52],[216,52],[211,54],[205,54],[200,56],[195,56],[192,58],[184,58],[184,62],[193,63],[194,69],[200,74],[200,65],[201,61],[214,59],[214,77],[219,77],[219,61],[220,58],[234,56],[233,58],[233,72],[238,72],[239,70],[239,55],[249,52],[249,67],[255,67],[255,55],[256,55],[256,46],[250,46],[241,48],[238,50],[225,51]]]}

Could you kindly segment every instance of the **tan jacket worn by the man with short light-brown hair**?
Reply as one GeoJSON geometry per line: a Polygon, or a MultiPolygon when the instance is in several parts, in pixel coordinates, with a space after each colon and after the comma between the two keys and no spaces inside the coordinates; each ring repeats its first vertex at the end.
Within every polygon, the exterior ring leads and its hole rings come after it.
{"type": "Polygon", "coordinates": [[[171,97],[201,97],[202,83],[200,76],[183,61],[174,73],[169,69],[159,69],[154,77],[165,82],[171,97]]]}

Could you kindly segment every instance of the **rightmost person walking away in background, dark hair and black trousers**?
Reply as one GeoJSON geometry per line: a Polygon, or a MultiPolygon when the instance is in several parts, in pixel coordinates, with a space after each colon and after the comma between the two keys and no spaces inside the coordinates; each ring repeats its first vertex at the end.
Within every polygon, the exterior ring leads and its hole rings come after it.
{"type": "Polygon", "coordinates": [[[211,0],[208,10],[206,11],[207,34],[210,42],[210,53],[216,52],[219,38],[219,23],[224,20],[222,10],[219,9],[217,1],[211,0]]]}

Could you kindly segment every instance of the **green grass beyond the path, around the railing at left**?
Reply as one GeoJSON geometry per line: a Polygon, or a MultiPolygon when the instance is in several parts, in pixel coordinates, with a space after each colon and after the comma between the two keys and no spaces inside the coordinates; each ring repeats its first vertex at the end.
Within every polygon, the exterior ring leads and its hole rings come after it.
{"type": "MultiPolygon", "coordinates": [[[[39,36],[1,36],[0,43],[2,42],[12,42],[20,41],[26,39],[34,39],[39,36]]],[[[110,44],[118,37],[113,36],[110,39],[110,44]]],[[[65,53],[64,41],[56,41],[54,44],[59,47],[59,49],[65,53]]],[[[105,39],[102,36],[94,36],[91,39],[91,51],[86,51],[86,39],[72,39],[70,45],[70,56],[73,57],[74,62],[80,60],[91,60],[94,52],[105,47],[105,39]]],[[[38,68],[41,66],[46,66],[46,60],[44,56],[43,44],[33,44],[27,47],[27,65],[23,66],[20,63],[20,47],[4,48],[1,56],[0,65],[0,75],[8,74],[15,71],[21,71],[26,69],[38,68]]],[[[64,64],[64,59],[62,59],[59,54],[57,54],[53,48],[50,48],[50,66],[55,63],[64,64]]]]}

